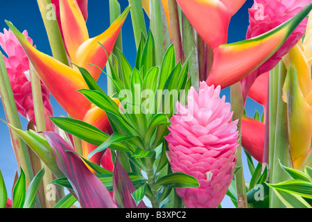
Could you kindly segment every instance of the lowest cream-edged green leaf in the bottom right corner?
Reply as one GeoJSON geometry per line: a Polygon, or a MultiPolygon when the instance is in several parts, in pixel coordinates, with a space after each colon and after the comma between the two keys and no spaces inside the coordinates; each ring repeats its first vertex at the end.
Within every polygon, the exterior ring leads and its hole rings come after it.
{"type": "Polygon", "coordinates": [[[279,200],[288,208],[311,208],[311,205],[306,203],[304,198],[297,194],[290,194],[281,189],[273,189],[279,200]]]}

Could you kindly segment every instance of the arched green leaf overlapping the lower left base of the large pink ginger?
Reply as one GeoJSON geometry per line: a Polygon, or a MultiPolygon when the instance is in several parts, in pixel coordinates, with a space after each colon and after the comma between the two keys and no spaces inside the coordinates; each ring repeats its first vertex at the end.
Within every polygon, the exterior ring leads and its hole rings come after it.
{"type": "Polygon", "coordinates": [[[170,173],[162,178],[159,178],[155,187],[170,187],[170,188],[190,188],[199,187],[198,180],[186,173],[170,173]]]}

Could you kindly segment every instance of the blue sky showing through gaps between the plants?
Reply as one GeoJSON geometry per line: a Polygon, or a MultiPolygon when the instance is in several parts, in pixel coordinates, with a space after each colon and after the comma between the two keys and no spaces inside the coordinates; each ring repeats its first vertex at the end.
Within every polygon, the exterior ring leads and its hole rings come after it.
{"type": "MultiPolygon", "coordinates": [[[[119,3],[121,3],[121,10],[124,10],[125,7],[128,6],[127,0],[119,0],[119,3]]],[[[228,42],[237,42],[245,39],[245,33],[248,28],[248,8],[251,8],[252,3],[252,0],[247,0],[241,10],[232,17],[229,26],[228,42]]],[[[89,36],[94,37],[103,33],[103,31],[105,31],[110,25],[108,0],[89,1],[88,10],[89,17],[87,20],[87,28],[89,30],[89,36]]],[[[44,24],[37,6],[37,1],[0,0],[0,32],[3,32],[3,28],[8,28],[4,22],[5,19],[12,22],[19,31],[24,31],[26,29],[28,35],[33,39],[34,44],[37,46],[37,49],[51,55],[49,40],[44,30],[44,24]]],[[[122,33],[123,53],[133,66],[135,63],[136,48],[130,15],[128,15],[123,24],[122,33]]],[[[101,76],[98,83],[103,89],[106,89],[106,77],[104,75],[101,76]]],[[[227,101],[229,102],[229,88],[223,89],[222,94],[225,94],[227,101]]],[[[55,116],[66,114],[53,98],[51,99],[51,103],[53,105],[55,116]]],[[[260,105],[251,99],[248,99],[246,106],[247,114],[253,117],[255,109],[259,110],[260,113],[263,112],[263,108],[260,105]]],[[[0,106],[0,118],[6,119],[2,105],[0,106]]],[[[21,123],[25,129],[27,123],[26,119],[21,117],[21,123]]],[[[18,167],[10,144],[8,128],[2,122],[0,123],[0,141],[0,169],[6,182],[6,187],[9,193],[8,196],[10,196],[13,178],[18,167]]],[[[249,180],[248,175],[246,176],[246,180],[249,180]]],[[[226,198],[223,207],[232,206],[232,203],[229,203],[228,198],[226,198]]]]}

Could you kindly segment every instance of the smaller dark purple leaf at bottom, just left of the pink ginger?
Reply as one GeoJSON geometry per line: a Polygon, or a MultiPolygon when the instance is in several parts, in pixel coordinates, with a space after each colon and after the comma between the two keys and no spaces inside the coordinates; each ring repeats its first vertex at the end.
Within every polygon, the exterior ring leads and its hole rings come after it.
{"type": "Polygon", "coordinates": [[[146,208],[146,205],[141,201],[138,205],[132,198],[131,194],[135,191],[135,185],[130,180],[128,173],[121,166],[116,158],[114,173],[113,173],[113,191],[116,203],[120,208],[146,208]]]}

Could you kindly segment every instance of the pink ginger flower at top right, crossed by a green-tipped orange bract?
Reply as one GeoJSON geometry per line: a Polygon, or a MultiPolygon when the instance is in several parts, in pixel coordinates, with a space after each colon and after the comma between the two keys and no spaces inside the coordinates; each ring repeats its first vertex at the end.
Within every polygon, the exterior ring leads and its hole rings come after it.
{"type": "MultiPolygon", "coordinates": [[[[246,38],[257,37],[283,24],[300,12],[300,10],[311,1],[312,0],[254,0],[254,5],[249,10],[250,26],[248,27],[246,38]]],[[[304,18],[279,50],[257,70],[241,81],[245,97],[247,97],[249,89],[257,76],[273,69],[281,58],[283,58],[283,56],[285,56],[302,38],[306,31],[307,22],[308,19],[304,18]]]]}

